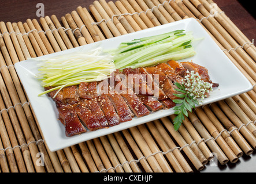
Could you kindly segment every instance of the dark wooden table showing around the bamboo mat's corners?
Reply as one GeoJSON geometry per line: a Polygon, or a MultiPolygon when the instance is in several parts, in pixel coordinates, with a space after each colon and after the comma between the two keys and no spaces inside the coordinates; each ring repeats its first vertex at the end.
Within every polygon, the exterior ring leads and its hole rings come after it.
{"type": "MultiPolygon", "coordinates": [[[[109,1],[109,0],[107,0],[109,1]]],[[[44,5],[44,16],[55,14],[59,19],[66,13],[76,10],[77,6],[88,7],[92,0],[8,0],[2,1],[0,6],[0,21],[3,22],[25,22],[28,18],[39,20],[36,16],[38,3],[44,5]]],[[[256,38],[256,20],[252,1],[238,0],[214,0],[222,11],[235,23],[236,26],[248,37],[249,40],[256,38]]],[[[256,152],[250,156],[243,156],[235,164],[228,163],[225,166],[210,166],[201,172],[256,172],[256,152]]]]}

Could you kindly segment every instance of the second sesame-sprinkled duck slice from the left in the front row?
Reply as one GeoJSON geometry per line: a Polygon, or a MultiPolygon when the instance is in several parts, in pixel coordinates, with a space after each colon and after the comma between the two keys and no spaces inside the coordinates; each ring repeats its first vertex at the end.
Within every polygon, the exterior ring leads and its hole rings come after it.
{"type": "Polygon", "coordinates": [[[101,124],[97,117],[91,113],[91,111],[86,107],[86,104],[79,103],[74,109],[84,127],[88,128],[90,131],[95,131],[101,128],[101,124]]]}

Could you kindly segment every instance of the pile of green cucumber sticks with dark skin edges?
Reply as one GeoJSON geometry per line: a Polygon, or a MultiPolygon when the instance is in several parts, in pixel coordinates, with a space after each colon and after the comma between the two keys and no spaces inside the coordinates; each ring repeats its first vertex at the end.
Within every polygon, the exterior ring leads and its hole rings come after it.
{"type": "Polygon", "coordinates": [[[170,59],[180,60],[195,55],[190,45],[194,40],[191,32],[184,30],[143,37],[124,42],[109,51],[118,69],[152,66],[170,59]]]}

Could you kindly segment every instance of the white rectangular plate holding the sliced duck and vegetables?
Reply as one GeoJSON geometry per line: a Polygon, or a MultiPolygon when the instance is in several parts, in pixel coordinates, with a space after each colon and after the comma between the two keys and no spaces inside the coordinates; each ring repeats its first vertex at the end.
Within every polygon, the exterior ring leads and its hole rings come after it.
{"type": "MultiPolygon", "coordinates": [[[[217,89],[214,89],[211,96],[203,101],[203,105],[220,101],[221,99],[232,97],[234,95],[246,93],[247,91],[253,89],[251,83],[238,70],[238,68],[235,67],[231,60],[228,59],[225,53],[221,51],[209,34],[207,34],[205,29],[203,29],[194,18],[188,18],[185,20],[172,22],[170,24],[141,30],[135,33],[114,37],[113,39],[103,40],[100,41],[101,47],[106,49],[116,48],[121,42],[124,41],[139,39],[146,36],[153,36],[177,29],[184,29],[185,32],[192,31],[195,38],[204,37],[203,40],[196,41],[196,43],[193,45],[196,55],[183,60],[192,60],[193,62],[206,67],[209,70],[210,79],[213,82],[220,84],[217,89]]],[[[98,43],[92,43],[41,57],[43,59],[55,55],[72,53],[81,48],[90,49],[98,43]]],[[[160,110],[142,118],[135,117],[132,121],[123,122],[120,125],[116,125],[111,128],[99,129],[91,132],[88,131],[86,133],[82,133],[81,135],[66,137],[64,126],[58,120],[58,112],[55,108],[53,100],[47,95],[38,97],[38,94],[42,93],[43,87],[40,86],[40,81],[35,79],[35,75],[38,74],[37,62],[33,59],[25,60],[23,62],[16,63],[15,68],[28,95],[29,102],[34,109],[36,118],[38,119],[40,128],[42,129],[44,139],[46,140],[51,151],[57,151],[86,140],[94,139],[99,136],[107,135],[109,133],[131,128],[145,122],[153,121],[161,117],[169,116],[174,112],[173,109],[160,110]]]]}

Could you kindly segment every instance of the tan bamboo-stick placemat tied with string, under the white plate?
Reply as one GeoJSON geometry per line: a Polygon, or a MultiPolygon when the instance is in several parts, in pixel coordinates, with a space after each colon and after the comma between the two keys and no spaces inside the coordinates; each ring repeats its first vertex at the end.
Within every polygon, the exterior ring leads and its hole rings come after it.
{"type": "MultiPolygon", "coordinates": [[[[94,1],[58,21],[0,22],[1,172],[195,172],[217,154],[236,163],[256,148],[256,49],[212,0],[94,1]],[[142,29],[195,18],[254,89],[195,109],[175,132],[161,118],[51,152],[13,65],[142,29]],[[43,156],[42,156],[43,155],[43,156]]],[[[220,66],[221,67],[221,66],[220,66]]]]}

